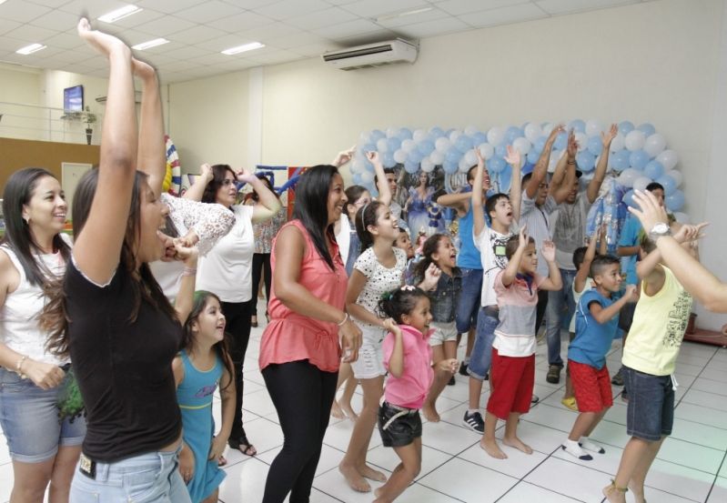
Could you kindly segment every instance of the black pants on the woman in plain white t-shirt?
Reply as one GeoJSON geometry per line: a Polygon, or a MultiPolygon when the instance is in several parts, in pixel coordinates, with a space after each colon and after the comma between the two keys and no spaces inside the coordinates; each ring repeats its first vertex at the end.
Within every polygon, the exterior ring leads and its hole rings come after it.
{"type": "Polygon", "coordinates": [[[235,418],[232,421],[230,438],[242,435],[242,367],[245,363],[247,343],[250,341],[250,305],[257,301],[253,297],[247,302],[223,302],[222,313],[230,336],[229,353],[235,366],[235,418]]]}

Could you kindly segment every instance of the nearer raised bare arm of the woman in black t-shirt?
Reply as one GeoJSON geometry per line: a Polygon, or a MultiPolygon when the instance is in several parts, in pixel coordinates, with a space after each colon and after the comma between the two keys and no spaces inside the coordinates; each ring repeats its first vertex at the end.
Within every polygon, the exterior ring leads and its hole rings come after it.
{"type": "Polygon", "coordinates": [[[118,266],[136,177],[131,50],[116,36],[91,30],[86,18],[78,22],[78,35],[106,56],[110,68],[96,194],[73,254],[86,277],[106,285],[118,266]]]}

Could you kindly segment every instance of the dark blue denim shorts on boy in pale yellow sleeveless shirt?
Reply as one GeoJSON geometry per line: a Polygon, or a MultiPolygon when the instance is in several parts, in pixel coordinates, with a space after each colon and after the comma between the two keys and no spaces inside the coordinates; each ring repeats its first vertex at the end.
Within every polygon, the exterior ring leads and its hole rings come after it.
{"type": "Polygon", "coordinates": [[[671,435],[674,424],[671,376],[652,376],[624,366],[623,383],[629,390],[626,432],[631,437],[650,441],[671,435]]]}

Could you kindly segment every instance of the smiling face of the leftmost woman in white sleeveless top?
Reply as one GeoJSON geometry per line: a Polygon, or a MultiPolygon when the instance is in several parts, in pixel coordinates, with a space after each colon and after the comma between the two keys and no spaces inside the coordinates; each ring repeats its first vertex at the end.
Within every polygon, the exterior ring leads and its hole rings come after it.
{"type": "Polygon", "coordinates": [[[38,178],[28,202],[23,205],[23,219],[34,234],[58,234],[66,225],[66,195],[53,176],[38,178]]]}

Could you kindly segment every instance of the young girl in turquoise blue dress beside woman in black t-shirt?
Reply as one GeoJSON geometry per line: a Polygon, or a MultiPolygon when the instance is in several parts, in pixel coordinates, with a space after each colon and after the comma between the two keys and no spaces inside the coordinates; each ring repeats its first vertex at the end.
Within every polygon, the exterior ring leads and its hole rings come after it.
{"type": "Polygon", "coordinates": [[[215,294],[195,293],[184,337],[185,348],[172,364],[184,428],[179,471],[193,503],[216,502],[225,478],[218,459],[235,416],[235,382],[225,340],[225,315],[215,294]],[[217,386],[222,398],[222,426],[215,437],[212,397],[217,386]]]}

